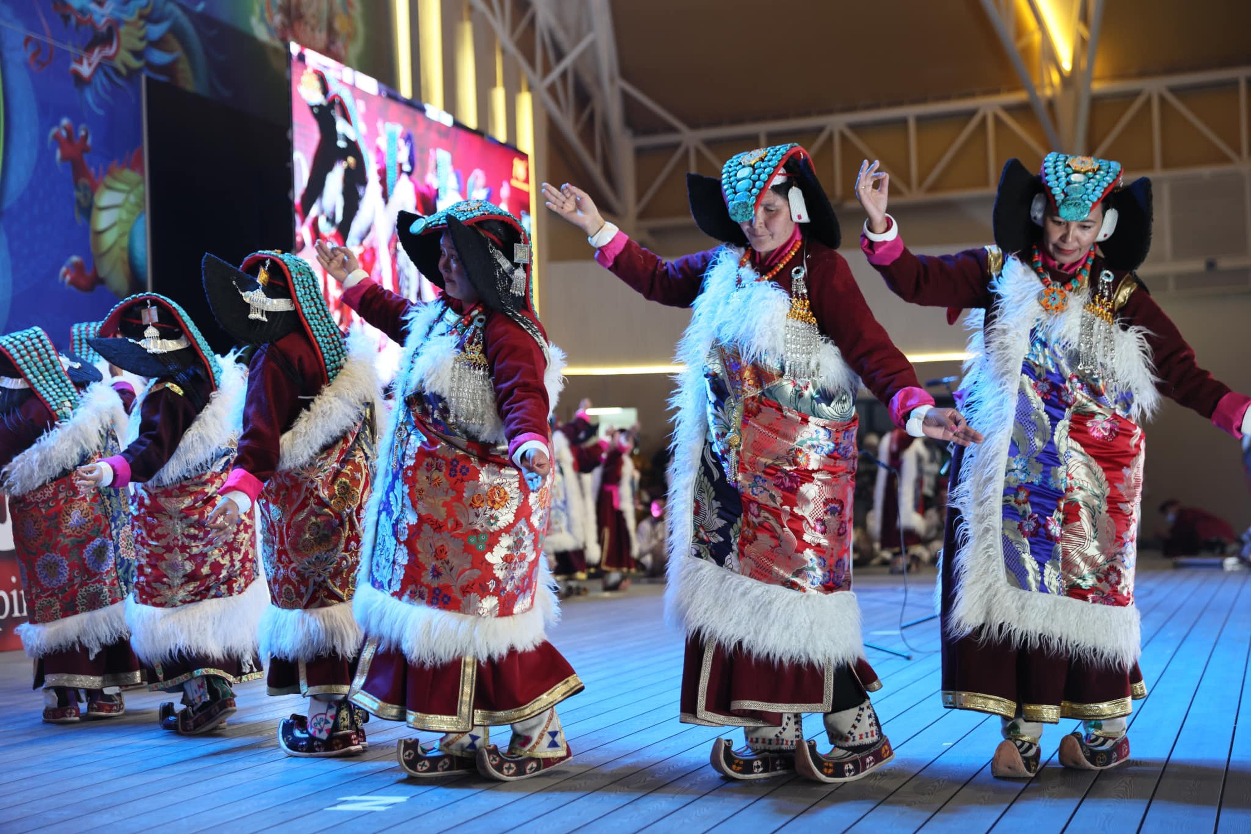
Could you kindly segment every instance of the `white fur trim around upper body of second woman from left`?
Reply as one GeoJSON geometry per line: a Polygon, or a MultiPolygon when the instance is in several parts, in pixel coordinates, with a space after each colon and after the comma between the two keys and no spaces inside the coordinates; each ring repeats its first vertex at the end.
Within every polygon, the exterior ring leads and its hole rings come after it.
{"type": "MultiPolygon", "coordinates": [[[[220,356],[218,361],[221,365],[221,384],[183,433],[174,454],[148,481],[149,486],[169,486],[204,473],[221,455],[223,449],[239,439],[243,431],[248,369],[234,360],[234,354],[220,356]]],[[[151,386],[135,398],[135,405],[130,410],[133,419],[126,435],[128,446],[139,438],[139,425],[143,423],[139,415],[149,391],[151,386]]]]}

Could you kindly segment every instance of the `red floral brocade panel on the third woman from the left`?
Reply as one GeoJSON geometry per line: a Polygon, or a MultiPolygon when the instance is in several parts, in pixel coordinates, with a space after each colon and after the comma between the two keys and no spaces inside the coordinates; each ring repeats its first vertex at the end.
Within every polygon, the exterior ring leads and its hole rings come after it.
{"type": "Polygon", "coordinates": [[[261,556],[278,608],[325,608],[355,594],[373,434],[367,416],[314,460],[278,471],[265,485],[261,556]]]}

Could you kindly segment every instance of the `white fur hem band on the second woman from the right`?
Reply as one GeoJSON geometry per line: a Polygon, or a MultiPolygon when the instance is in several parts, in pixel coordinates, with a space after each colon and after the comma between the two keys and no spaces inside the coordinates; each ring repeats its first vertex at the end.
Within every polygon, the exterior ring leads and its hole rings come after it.
{"type": "Polygon", "coordinates": [[[669,564],[666,609],[688,636],[712,638],[772,663],[843,664],[864,656],[852,591],[791,590],[694,556],[669,564]]]}

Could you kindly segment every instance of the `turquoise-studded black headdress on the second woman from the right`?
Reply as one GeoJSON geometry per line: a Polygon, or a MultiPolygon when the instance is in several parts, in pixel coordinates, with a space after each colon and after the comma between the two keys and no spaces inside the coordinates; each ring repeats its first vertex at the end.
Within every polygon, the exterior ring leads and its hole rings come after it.
{"type": "Polygon", "coordinates": [[[739,224],[752,221],[779,176],[788,178],[803,195],[798,203],[807,216],[796,220],[803,224],[804,234],[837,249],[841,235],[834,208],[821,188],[808,151],[794,143],[734,154],[722,166],[721,179],[687,174],[687,196],[696,225],[711,238],[746,246],[747,235],[739,224]]]}

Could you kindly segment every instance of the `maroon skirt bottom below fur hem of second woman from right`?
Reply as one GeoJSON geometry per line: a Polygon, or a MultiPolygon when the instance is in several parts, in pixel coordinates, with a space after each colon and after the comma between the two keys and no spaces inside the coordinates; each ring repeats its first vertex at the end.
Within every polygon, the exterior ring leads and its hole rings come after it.
{"type": "Polygon", "coordinates": [[[773,663],[688,636],[681,720],[706,726],[776,726],[783,713],[837,713],[859,706],[881,688],[863,658],[824,666],[773,663]]]}

